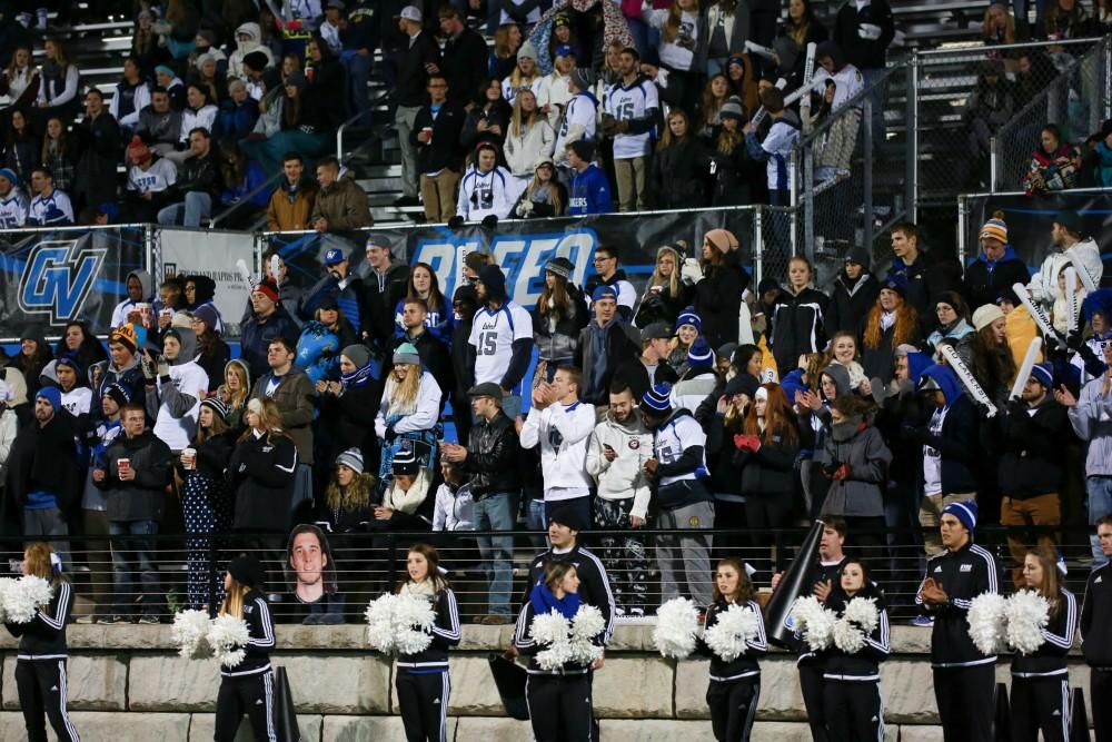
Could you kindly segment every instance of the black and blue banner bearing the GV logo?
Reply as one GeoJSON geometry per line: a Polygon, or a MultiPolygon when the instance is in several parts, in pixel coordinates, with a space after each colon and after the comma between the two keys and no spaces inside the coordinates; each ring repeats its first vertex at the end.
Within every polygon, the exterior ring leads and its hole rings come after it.
{"type": "Polygon", "coordinates": [[[127,296],[127,276],[147,265],[143,229],[12,233],[0,236],[0,338],[29,327],[61,336],[83,319],[97,335],[111,329],[112,309],[127,296]]]}

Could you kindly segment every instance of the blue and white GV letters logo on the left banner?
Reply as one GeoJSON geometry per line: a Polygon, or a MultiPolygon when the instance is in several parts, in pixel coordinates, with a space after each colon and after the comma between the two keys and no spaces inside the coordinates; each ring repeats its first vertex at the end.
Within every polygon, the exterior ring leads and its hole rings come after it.
{"type": "Polygon", "coordinates": [[[20,309],[49,314],[52,325],[78,318],[108,253],[80,241],[43,240],[31,249],[19,281],[20,309]]]}

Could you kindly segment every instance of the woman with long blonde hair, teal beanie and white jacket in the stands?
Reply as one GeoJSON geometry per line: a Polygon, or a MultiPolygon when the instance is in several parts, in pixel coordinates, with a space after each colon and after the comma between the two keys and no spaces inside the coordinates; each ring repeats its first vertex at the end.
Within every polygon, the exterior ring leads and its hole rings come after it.
{"type": "Polygon", "coordinates": [[[443,398],[444,390],[425,370],[417,348],[411,343],[399,345],[375,416],[375,433],[383,443],[380,486],[389,481],[394,456],[403,445],[414,448],[421,467],[433,466],[443,398]]]}

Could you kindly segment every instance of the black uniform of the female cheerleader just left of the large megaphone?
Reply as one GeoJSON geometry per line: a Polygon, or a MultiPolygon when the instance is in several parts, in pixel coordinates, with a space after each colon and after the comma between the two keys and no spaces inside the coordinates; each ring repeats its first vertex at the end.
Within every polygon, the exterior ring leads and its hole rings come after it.
{"type": "MultiPolygon", "coordinates": [[[[711,684],[706,689],[706,703],[711,706],[711,726],[714,739],[718,742],[748,742],[761,698],[761,665],[756,659],[767,651],[768,642],[765,639],[761,606],[754,601],[746,605],[757,616],[757,636],[745,642],[744,653],[726,662],[699,640],[703,653],[711,656],[711,684]]],[[[731,603],[721,597],[706,610],[704,633],[718,623],[718,614],[729,606],[731,603]]]]}

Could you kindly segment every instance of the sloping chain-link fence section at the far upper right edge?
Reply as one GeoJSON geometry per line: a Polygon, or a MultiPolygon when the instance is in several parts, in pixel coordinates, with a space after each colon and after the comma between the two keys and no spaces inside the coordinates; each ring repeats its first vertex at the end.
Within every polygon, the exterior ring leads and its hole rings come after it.
{"type": "Polygon", "coordinates": [[[1048,47],[1058,76],[1015,111],[992,140],[992,190],[1023,187],[1032,154],[1040,147],[1040,132],[1049,123],[1062,131],[1063,141],[1082,146],[1110,117],[1109,98],[1112,41],[1096,46],[1048,47]],[[1083,52],[1083,53],[1082,53],[1083,52]]]}

